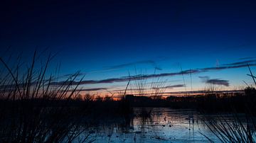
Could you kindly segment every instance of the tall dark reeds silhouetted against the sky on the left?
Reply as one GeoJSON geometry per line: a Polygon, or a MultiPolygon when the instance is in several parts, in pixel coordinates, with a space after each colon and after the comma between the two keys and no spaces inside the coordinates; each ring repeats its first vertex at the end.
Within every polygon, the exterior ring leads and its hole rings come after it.
{"type": "Polygon", "coordinates": [[[72,106],[78,96],[78,84],[73,85],[80,72],[70,75],[62,84],[47,74],[50,60],[39,69],[37,52],[30,65],[3,65],[0,80],[0,142],[91,142],[86,127],[81,127],[84,109],[72,106]],[[79,137],[84,134],[85,137],[79,137]]]}

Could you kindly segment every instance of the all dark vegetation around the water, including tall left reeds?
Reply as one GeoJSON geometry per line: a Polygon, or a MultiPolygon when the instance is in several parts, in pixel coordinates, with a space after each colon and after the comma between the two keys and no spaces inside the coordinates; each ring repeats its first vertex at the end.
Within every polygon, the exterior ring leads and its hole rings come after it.
{"type": "Polygon", "coordinates": [[[49,56],[47,62],[36,69],[35,52],[30,66],[22,74],[19,62],[11,68],[1,59],[0,142],[93,142],[95,138],[88,130],[91,126],[117,118],[124,120],[126,125],[134,116],[150,118],[151,111],[146,107],[193,108],[202,113],[229,112],[234,115],[245,113],[247,125],[240,119],[231,123],[207,119],[206,125],[223,142],[254,142],[256,90],[253,87],[232,95],[206,92],[168,98],[133,96],[124,91],[122,97],[114,101],[109,97],[81,95],[80,82],[76,81],[79,72],[70,75],[63,84],[53,86],[55,77],[46,76],[50,59],[49,56]],[[141,111],[135,114],[134,107],[141,107],[141,111]]]}

